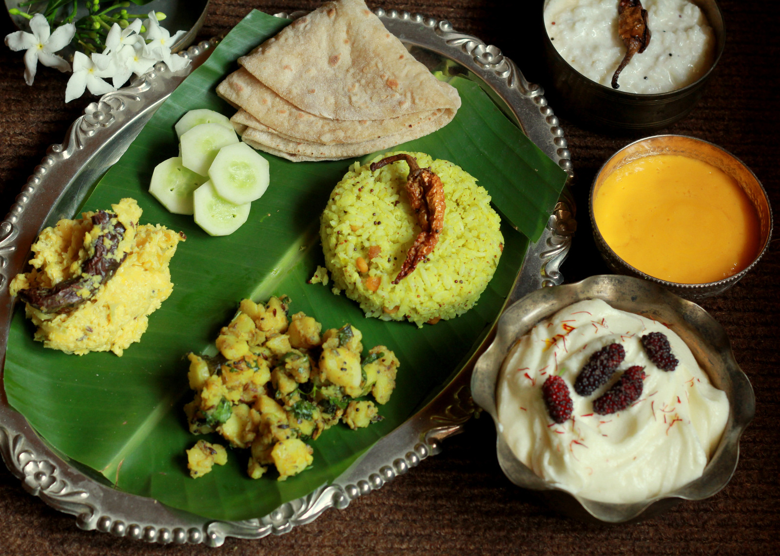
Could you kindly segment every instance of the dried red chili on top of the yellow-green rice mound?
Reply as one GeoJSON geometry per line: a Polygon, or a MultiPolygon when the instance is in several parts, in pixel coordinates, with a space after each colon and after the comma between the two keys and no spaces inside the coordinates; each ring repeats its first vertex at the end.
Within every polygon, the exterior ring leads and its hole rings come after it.
{"type": "Polygon", "coordinates": [[[430,255],[438,243],[439,234],[444,224],[444,185],[431,168],[420,168],[417,159],[406,153],[395,154],[371,164],[371,171],[378,170],[386,164],[405,160],[409,164],[409,176],[406,178],[406,195],[417,216],[420,234],[406,253],[406,260],[401,266],[398,276],[392,283],[399,283],[408,276],[417,264],[430,255]]]}

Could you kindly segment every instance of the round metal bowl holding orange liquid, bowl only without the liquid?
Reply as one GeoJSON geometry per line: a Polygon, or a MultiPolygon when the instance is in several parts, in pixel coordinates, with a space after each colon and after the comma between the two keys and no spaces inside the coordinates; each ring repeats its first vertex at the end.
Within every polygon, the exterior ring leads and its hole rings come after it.
{"type": "Polygon", "coordinates": [[[742,160],[739,160],[739,158],[735,157],[732,153],[729,153],[729,151],[722,149],[714,143],[704,141],[704,139],[697,139],[696,137],[688,137],[686,135],[654,135],[653,137],[638,139],[633,143],[624,146],[613,154],[612,157],[609,157],[609,160],[607,160],[597,172],[596,177],[593,180],[593,185],[590,187],[589,208],[590,224],[593,227],[593,236],[596,241],[596,247],[599,252],[601,252],[601,257],[605,260],[612,272],[628,274],[629,276],[636,276],[643,280],[649,280],[665,287],[674,294],[694,301],[722,294],[725,290],[728,290],[739,282],[739,280],[742,280],[743,277],[758,264],[761,257],[764,256],[764,253],[767,252],[772,238],[772,207],[769,204],[769,195],[767,195],[764,186],[761,185],[761,181],[758,180],[756,174],[753,174],[753,171],[750,171],[750,168],[747,167],[742,160]],[[661,280],[660,278],[650,276],[640,269],[629,265],[628,262],[623,260],[608,245],[604,236],[601,235],[601,230],[599,230],[593,213],[593,202],[598,189],[608,176],[620,167],[625,166],[638,158],[655,154],[679,154],[696,160],[704,160],[707,164],[711,164],[725,172],[725,174],[729,175],[730,178],[739,184],[739,187],[746,193],[750,202],[753,203],[759,224],[759,245],[761,248],[753,261],[750,262],[750,265],[746,266],[733,276],[715,282],[669,282],[668,280],[661,280]]]}

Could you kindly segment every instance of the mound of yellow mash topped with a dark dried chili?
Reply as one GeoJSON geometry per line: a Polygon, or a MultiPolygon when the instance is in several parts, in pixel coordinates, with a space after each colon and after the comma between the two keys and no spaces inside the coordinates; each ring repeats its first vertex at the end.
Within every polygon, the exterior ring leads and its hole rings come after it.
{"type": "Polygon", "coordinates": [[[11,282],[37,326],[35,340],[66,354],[123,350],[140,340],[148,315],[173,290],[168,271],[184,234],[139,225],[135,199],[113,211],[60,220],[32,247],[29,273],[11,282]]]}

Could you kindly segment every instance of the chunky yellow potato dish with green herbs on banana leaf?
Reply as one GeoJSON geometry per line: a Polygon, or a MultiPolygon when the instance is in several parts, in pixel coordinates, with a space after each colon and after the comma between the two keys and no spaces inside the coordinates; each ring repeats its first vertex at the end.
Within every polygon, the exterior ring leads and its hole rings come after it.
{"type": "MultiPolygon", "coordinates": [[[[307,442],[339,421],[349,428],[380,421],[377,406],[395,388],[398,358],[385,346],[362,357],[363,335],[346,324],[322,333],[302,312],[287,318],[284,297],[267,304],[241,301],[235,318],[220,331],[219,354],[190,354],[190,388],[184,410],[190,432],[216,432],[232,448],[250,449],[247,473],[257,479],[274,465],[278,480],[312,464],[307,442]],[[374,401],[363,398],[371,394],[374,401]]],[[[191,477],[224,465],[222,445],[198,441],[187,450],[191,477]]]]}

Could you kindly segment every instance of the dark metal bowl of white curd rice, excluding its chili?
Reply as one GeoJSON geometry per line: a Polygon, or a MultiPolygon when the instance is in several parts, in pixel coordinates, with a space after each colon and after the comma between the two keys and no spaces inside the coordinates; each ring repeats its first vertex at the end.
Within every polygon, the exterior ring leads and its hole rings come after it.
{"type": "Polygon", "coordinates": [[[683,118],[704,93],[725,47],[716,0],[643,0],[650,40],[612,87],[626,45],[618,2],[545,0],[547,95],[583,125],[646,135],[683,118]]]}

